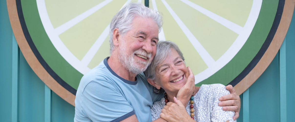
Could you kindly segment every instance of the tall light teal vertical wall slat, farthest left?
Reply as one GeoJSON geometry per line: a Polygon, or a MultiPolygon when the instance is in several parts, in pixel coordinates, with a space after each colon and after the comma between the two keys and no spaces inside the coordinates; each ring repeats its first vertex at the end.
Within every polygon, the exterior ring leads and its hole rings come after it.
{"type": "Polygon", "coordinates": [[[19,78],[18,78],[18,72],[19,72],[19,48],[17,45],[17,41],[14,37],[14,34],[12,33],[12,113],[11,113],[11,119],[12,122],[18,122],[18,113],[19,113],[19,78]]]}

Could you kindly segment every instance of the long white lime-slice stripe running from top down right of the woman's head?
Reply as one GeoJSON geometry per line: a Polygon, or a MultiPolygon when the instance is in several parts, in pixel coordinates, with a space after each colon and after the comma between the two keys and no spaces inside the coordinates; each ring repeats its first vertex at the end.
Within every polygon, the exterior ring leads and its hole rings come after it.
{"type": "Polygon", "coordinates": [[[176,15],[176,13],[172,10],[172,8],[168,5],[165,0],[162,0],[165,7],[168,9],[172,17],[175,19],[176,23],[179,25],[181,30],[184,32],[186,37],[189,39],[191,44],[195,47],[201,58],[204,60],[208,67],[211,67],[215,61],[210,56],[210,54],[205,50],[205,48],[201,45],[201,43],[196,39],[196,37],[191,33],[191,31],[186,27],[186,25],[181,21],[181,19],[176,15]]]}

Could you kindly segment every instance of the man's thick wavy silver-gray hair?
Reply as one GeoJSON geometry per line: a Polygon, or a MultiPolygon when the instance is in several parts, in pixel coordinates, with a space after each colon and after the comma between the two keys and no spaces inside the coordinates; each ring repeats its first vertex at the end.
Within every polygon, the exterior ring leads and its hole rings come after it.
{"type": "Polygon", "coordinates": [[[113,31],[115,28],[119,29],[119,34],[123,36],[126,32],[132,29],[132,21],[134,17],[150,18],[153,22],[157,23],[159,32],[162,28],[163,18],[158,11],[145,7],[143,4],[134,2],[123,6],[123,8],[113,17],[110,23],[109,42],[110,42],[110,54],[114,50],[113,43],[113,31]]]}

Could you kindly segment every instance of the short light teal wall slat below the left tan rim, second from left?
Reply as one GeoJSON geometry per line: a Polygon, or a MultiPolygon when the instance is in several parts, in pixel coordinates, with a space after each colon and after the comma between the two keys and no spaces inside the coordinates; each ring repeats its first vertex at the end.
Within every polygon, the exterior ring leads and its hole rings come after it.
{"type": "Polygon", "coordinates": [[[51,90],[45,84],[45,115],[44,119],[45,122],[51,122],[51,90]]]}

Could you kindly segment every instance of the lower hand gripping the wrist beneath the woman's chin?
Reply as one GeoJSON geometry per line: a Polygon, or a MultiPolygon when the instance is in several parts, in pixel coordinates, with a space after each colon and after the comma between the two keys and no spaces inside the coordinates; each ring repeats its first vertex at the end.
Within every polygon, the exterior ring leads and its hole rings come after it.
{"type": "Polygon", "coordinates": [[[162,109],[160,117],[168,122],[196,122],[189,114],[187,114],[185,107],[180,100],[173,98],[175,103],[168,102],[162,109]]]}

